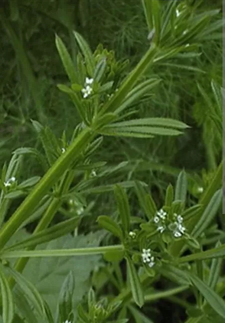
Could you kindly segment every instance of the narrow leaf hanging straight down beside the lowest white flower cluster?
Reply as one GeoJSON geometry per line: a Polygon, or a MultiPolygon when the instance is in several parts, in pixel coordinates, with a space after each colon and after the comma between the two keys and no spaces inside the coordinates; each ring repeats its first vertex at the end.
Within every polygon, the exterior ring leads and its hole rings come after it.
{"type": "Polygon", "coordinates": [[[135,269],[132,259],[128,256],[126,257],[126,260],[127,260],[128,277],[131,285],[131,292],[132,292],[133,299],[139,307],[142,307],[144,305],[144,293],[142,290],[140,278],[137,274],[137,271],[135,269]]]}

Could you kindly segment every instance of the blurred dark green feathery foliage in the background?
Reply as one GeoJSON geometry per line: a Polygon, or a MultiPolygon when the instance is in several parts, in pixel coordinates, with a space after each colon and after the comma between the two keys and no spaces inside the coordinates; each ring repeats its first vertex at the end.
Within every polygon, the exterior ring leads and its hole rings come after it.
{"type": "MultiPolygon", "coordinates": [[[[222,8],[219,0],[186,2],[193,7],[198,5],[202,11],[222,8]]],[[[104,47],[115,51],[118,59],[128,58],[127,72],[149,46],[143,8],[137,0],[4,0],[0,21],[0,166],[15,148],[39,147],[30,119],[48,124],[57,136],[63,130],[70,136],[79,122],[72,103],[56,87],[57,83],[66,83],[67,77],[55,47],[55,33],[63,39],[74,61],[77,47],[72,30],[77,30],[93,50],[103,43],[104,47]]],[[[148,73],[160,76],[162,82],[152,97],[136,107],[137,117],[172,117],[192,128],[180,137],[105,138],[95,156],[96,160],[105,160],[110,166],[128,161],[122,171],[119,169],[113,174],[113,182],[116,179],[144,180],[150,185],[158,205],[165,197],[166,186],[170,181],[175,182],[183,167],[190,175],[193,194],[198,196],[197,187],[205,188],[221,160],[222,142],[214,114],[222,120],[222,110],[218,110],[212,80],[222,86],[222,30],[214,37],[209,32],[203,40],[206,39],[198,57],[183,56],[168,64],[155,64],[148,73]]],[[[24,159],[23,169],[26,173],[21,172],[21,178],[31,173],[42,175],[32,159],[24,159]]],[[[109,175],[108,183],[111,179],[109,175]]],[[[93,195],[93,202],[93,220],[82,224],[83,233],[90,227],[95,230],[96,215],[103,210],[111,213],[115,210],[109,194],[93,195]]],[[[189,204],[194,202],[190,197],[189,204]]],[[[132,211],[138,214],[136,200],[131,205],[132,211]]],[[[220,223],[222,229],[225,228],[223,219],[220,223]]],[[[29,266],[27,268],[29,270],[29,266]]],[[[88,273],[92,269],[93,264],[88,273]]],[[[169,310],[168,304],[164,306],[169,310]]],[[[160,305],[157,314],[159,310],[160,305]]],[[[176,312],[179,316],[177,307],[175,316],[176,312]]]]}

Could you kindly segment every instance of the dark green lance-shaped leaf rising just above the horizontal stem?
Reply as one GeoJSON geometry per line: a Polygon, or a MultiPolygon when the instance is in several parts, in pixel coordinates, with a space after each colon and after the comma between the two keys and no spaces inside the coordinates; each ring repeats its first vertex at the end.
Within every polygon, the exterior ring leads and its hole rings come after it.
{"type": "Polygon", "coordinates": [[[62,236],[74,230],[74,228],[77,227],[77,225],[79,224],[80,219],[81,219],[80,216],[76,216],[69,220],[63,221],[50,228],[42,230],[39,233],[32,234],[32,236],[30,236],[29,238],[23,241],[17,242],[15,244],[12,244],[8,248],[5,248],[4,250],[27,248],[27,247],[36,246],[40,243],[49,242],[53,239],[58,238],[59,236],[62,236]]]}

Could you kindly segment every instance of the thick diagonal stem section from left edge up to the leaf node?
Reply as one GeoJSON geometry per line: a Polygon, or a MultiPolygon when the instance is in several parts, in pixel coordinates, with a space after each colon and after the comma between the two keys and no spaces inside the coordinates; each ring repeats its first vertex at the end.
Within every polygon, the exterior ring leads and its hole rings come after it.
{"type": "Polygon", "coordinates": [[[45,173],[31,193],[24,199],[16,211],[0,230],[0,249],[3,248],[8,238],[27,219],[38,201],[48,192],[72,162],[78,158],[80,152],[94,137],[93,131],[86,127],[77,136],[71,146],[63,153],[52,167],[45,173]]]}

